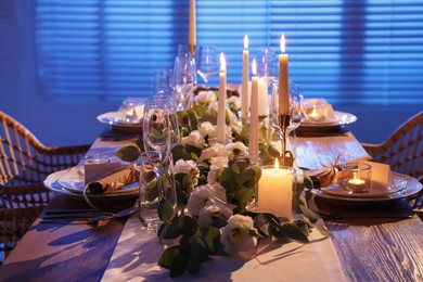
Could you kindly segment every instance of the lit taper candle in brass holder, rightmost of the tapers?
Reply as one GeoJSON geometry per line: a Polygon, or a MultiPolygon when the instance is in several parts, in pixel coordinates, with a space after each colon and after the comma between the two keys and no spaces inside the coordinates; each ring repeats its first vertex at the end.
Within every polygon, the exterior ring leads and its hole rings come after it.
{"type": "Polygon", "coordinates": [[[290,79],[287,74],[287,54],[285,53],[285,37],[281,36],[281,53],[279,55],[279,114],[290,114],[290,79]]]}

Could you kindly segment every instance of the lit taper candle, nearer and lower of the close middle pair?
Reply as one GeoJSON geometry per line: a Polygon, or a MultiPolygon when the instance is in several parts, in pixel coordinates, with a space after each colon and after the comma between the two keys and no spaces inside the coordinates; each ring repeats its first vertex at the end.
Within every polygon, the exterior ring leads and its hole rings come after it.
{"type": "Polygon", "coordinates": [[[257,64],[256,60],[253,60],[252,65],[252,102],[251,102],[251,113],[249,113],[249,142],[248,142],[248,152],[249,161],[258,161],[258,77],[257,74],[257,64]]]}

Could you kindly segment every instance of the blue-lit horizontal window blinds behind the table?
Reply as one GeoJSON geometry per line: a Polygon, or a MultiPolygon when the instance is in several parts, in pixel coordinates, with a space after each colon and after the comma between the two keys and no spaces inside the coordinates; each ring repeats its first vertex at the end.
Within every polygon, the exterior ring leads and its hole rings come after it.
{"type": "MultiPolygon", "coordinates": [[[[423,106],[423,0],[196,0],[196,12],[197,48],[225,52],[229,82],[241,82],[244,35],[253,59],[260,47],[279,53],[283,33],[306,97],[423,106]]],[[[154,69],[188,43],[188,0],[36,0],[39,94],[150,95],[154,69]]]]}

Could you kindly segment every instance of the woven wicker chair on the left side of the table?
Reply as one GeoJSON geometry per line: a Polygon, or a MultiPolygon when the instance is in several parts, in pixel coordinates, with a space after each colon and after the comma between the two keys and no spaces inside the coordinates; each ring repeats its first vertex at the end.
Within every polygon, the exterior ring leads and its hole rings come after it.
{"type": "Polygon", "coordinates": [[[1,265],[53,195],[42,181],[51,172],[77,165],[89,145],[48,148],[1,111],[0,123],[1,265]]]}

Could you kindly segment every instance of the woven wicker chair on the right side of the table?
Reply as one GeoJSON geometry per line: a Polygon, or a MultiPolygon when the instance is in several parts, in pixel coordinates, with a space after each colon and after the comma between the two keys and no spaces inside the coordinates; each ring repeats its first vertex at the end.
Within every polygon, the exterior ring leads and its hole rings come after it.
{"type": "MultiPolygon", "coordinates": [[[[361,144],[376,162],[388,164],[394,171],[414,177],[423,183],[423,111],[398,127],[383,143],[361,144]]],[[[423,205],[422,193],[412,201],[412,205],[423,205]]]]}

